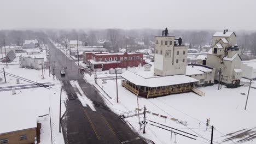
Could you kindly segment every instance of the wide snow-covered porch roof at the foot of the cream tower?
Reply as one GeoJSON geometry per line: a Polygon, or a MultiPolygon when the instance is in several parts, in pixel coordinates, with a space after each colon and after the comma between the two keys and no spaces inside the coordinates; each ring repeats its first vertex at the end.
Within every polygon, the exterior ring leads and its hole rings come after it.
{"type": "Polygon", "coordinates": [[[123,73],[121,76],[127,81],[134,83],[135,85],[146,87],[171,86],[178,85],[181,83],[190,83],[198,81],[186,75],[153,76],[150,78],[145,78],[142,75],[138,75],[137,73],[133,73],[129,70],[126,70],[125,73],[123,73]]]}

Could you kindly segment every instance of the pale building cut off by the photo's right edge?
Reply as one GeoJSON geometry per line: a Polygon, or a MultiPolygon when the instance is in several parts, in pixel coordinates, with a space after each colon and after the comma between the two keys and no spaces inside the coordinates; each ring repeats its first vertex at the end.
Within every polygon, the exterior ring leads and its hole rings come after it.
{"type": "Polygon", "coordinates": [[[255,79],[256,59],[252,59],[250,61],[242,61],[241,69],[243,71],[242,77],[246,77],[247,79],[255,79]]]}

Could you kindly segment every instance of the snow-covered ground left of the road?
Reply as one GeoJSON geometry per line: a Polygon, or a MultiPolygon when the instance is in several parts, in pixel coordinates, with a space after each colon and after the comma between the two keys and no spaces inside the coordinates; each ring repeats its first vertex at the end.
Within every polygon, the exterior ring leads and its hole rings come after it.
{"type": "MultiPolygon", "coordinates": [[[[51,130],[53,135],[53,143],[64,143],[63,134],[59,133],[59,106],[60,106],[60,87],[61,82],[53,79],[53,75],[49,77],[49,70],[44,70],[44,79],[42,79],[42,70],[19,68],[19,64],[15,65],[0,65],[0,70],[5,68],[5,72],[24,77],[26,79],[36,81],[38,83],[50,82],[54,83],[53,88],[46,89],[42,87],[20,89],[16,90],[16,94],[12,94],[11,91],[0,92],[0,109],[16,109],[20,112],[26,112],[31,110],[35,113],[37,122],[42,124],[40,129],[40,143],[51,143],[51,130]],[[50,112],[49,112],[50,111],[50,112]],[[50,115],[51,113],[51,127],[50,127],[50,115]],[[42,117],[39,117],[42,116],[42,117]],[[51,128],[51,129],[50,129],[51,128]]],[[[7,83],[4,82],[4,76],[0,73],[0,88],[6,86],[22,86],[31,84],[26,81],[20,80],[20,84],[16,84],[16,78],[6,76],[7,83]]],[[[66,93],[62,91],[62,115],[66,111],[65,100],[66,93]]],[[[0,111],[1,115],[1,111],[0,111]]],[[[20,118],[15,117],[15,113],[10,113],[8,117],[15,118],[19,121],[20,118]]],[[[0,119],[1,123],[1,119],[0,119]]],[[[6,126],[8,127],[7,123],[6,126]]]]}

